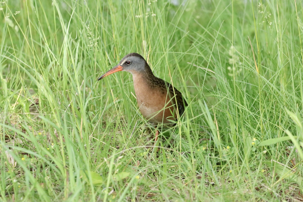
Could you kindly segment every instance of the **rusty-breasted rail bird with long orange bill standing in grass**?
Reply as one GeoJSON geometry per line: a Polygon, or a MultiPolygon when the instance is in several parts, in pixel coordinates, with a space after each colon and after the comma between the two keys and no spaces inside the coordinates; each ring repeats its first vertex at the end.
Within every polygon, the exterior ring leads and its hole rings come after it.
{"type": "Polygon", "coordinates": [[[117,71],[132,74],[138,107],[143,117],[156,128],[155,141],[158,139],[159,125],[173,126],[188,106],[181,92],[170,83],[156,77],[147,61],[138,53],[125,55],[117,66],[107,71],[98,81],[117,71]]]}

